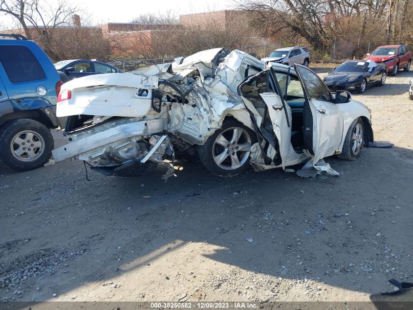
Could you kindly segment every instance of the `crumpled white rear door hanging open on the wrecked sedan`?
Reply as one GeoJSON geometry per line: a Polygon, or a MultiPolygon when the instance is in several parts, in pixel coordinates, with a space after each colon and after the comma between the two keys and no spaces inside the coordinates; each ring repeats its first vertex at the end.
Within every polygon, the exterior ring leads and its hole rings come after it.
{"type": "Polygon", "coordinates": [[[239,90],[257,111],[260,109],[263,111],[261,112],[264,114],[263,122],[258,125],[262,133],[272,131],[271,136],[275,136],[277,141],[273,138],[268,139],[265,134],[263,136],[270,144],[273,144],[274,149],[279,150],[278,158],[281,157],[278,161],[274,158],[271,160],[274,161],[274,165],[282,164],[284,167],[291,145],[291,109],[279,95],[281,94],[280,85],[273,68],[247,78],[239,86],[239,90]],[[268,111],[268,114],[265,111],[268,111]],[[268,115],[271,123],[265,115],[268,115]]]}

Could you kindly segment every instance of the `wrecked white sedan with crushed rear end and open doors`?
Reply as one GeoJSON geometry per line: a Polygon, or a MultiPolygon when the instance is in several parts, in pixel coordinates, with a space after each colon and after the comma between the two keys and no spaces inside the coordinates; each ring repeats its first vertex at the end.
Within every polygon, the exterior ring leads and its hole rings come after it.
{"type": "Polygon", "coordinates": [[[269,65],[239,50],[209,49],[172,64],[65,83],[57,116],[68,116],[69,143],[56,162],[74,158],[107,174],[198,154],[220,176],[323,158],[354,160],[373,142],[370,112],[346,91],[333,96],[302,65],[269,65]]]}

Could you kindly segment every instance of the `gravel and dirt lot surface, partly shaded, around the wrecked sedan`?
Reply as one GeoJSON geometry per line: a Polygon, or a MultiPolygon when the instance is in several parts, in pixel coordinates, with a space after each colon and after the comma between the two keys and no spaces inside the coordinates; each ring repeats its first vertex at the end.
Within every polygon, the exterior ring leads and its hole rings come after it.
{"type": "Polygon", "coordinates": [[[327,158],[341,177],[178,163],[167,183],[162,168],[89,182],[80,161],[0,164],[0,299],[348,302],[413,282],[412,76],[353,96],[394,147],[327,158]]]}

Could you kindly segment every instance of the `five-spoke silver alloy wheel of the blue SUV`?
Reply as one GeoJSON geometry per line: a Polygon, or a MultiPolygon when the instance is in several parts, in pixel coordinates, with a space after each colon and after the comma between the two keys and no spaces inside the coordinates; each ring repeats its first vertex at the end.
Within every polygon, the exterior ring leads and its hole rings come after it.
{"type": "Polygon", "coordinates": [[[18,160],[33,162],[43,154],[44,139],[35,131],[21,131],[12,139],[10,150],[18,160]]]}

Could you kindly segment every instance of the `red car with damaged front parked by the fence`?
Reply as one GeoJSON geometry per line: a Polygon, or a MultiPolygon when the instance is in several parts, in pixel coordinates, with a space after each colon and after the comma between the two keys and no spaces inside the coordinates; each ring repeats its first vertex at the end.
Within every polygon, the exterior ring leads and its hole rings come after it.
{"type": "Polygon", "coordinates": [[[374,49],[371,54],[367,54],[364,60],[372,60],[376,64],[385,64],[387,72],[396,75],[400,69],[404,69],[406,72],[410,70],[412,52],[404,45],[386,45],[374,49]]]}

